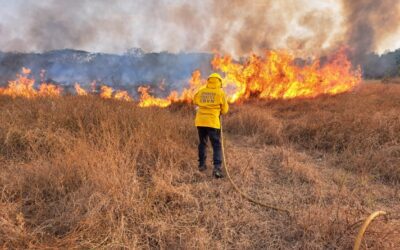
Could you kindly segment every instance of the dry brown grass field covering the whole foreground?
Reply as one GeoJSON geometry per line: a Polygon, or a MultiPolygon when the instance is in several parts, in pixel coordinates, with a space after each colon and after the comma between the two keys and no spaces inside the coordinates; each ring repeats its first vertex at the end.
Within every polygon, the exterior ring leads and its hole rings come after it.
{"type": "Polygon", "coordinates": [[[193,119],[184,105],[1,96],[0,247],[349,249],[385,210],[363,248],[400,249],[400,85],[231,106],[233,179],[290,217],[198,172],[193,119]]]}

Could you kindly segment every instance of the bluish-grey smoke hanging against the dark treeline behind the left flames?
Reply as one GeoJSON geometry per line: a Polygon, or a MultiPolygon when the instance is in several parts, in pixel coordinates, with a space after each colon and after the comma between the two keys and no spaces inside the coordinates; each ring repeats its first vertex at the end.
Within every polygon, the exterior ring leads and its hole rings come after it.
{"type": "Polygon", "coordinates": [[[123,55],[57,50],[46,53],[1,53],[0,86],[21,73],[22,67],[32,70],[36,83],[61,85],[74,92],[74,83],[87,89],[96,82],[136,94],[140,85],[149,85],[161,96],[170,90],[187,86],[193,71],[211,72],[211,54],[168,52],[145,53],[132,49],[123,55]]]}

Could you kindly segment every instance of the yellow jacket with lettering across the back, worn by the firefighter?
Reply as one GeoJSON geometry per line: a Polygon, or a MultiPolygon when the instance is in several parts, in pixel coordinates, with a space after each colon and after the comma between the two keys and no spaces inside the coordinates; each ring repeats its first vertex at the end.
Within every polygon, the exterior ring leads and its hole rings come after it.
{"type": "Polygon", "coordinates": [[[196,127],[221,128],[219,116],[228,112],[229,105],[218,79],[208,79],[207,86],[194,95],[193,103],[198,106],[196,127]]]}

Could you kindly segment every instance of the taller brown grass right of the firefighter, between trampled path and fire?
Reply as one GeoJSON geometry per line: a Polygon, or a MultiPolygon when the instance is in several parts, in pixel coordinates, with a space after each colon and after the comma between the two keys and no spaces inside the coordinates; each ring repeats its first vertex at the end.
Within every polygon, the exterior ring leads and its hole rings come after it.
{"type": "Polygon", "coordinates": [[[400,86],[370,84],[354,93],[237,107],[228,131],[329,155],[331,165],[400,183],[400,86]]]}

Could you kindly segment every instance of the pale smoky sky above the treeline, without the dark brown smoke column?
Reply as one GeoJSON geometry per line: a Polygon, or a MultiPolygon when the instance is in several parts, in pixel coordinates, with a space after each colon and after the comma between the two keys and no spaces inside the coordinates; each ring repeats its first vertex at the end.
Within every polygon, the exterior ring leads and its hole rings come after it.
{"type": "MultiPolygon", "coordinates": [[[[240,55],[284,48],[301,54],[343,42],[349,22],[341,0],[0,0],[0,6],[1,51],[141,47],[240,55]]],[[[374,47],[400,48],[400,29],[374,47]]]]}

